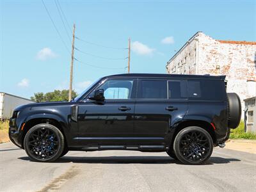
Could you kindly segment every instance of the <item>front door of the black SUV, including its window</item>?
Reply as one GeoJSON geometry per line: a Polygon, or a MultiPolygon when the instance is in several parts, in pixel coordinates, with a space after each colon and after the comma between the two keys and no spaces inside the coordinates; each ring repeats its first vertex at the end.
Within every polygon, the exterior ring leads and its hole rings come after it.
{"type": "Polygon", "coordinates": [[[104,90],[104,101],[86,98],[79,103],[80,144],[125,145],[133,133],[136,80],[106,79],[97,89],[104,90]]]}

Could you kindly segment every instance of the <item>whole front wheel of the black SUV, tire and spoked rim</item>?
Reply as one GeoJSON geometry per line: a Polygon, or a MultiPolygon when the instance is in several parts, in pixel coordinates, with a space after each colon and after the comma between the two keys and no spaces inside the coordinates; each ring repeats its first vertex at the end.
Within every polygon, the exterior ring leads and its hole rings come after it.
{"type": "Polygon", "coordinates": [[[63,134],[51,124],[35,125],[24,138],[24,148],[33,161],[55,161],[61,156],[64,146],[63,134]]]}

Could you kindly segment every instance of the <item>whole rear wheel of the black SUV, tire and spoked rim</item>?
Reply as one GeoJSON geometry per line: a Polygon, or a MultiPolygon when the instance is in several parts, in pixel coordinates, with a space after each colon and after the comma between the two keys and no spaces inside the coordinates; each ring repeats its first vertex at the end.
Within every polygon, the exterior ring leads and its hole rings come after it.
{"type": "Polygon", "coordinates": [[[212,154],[211,135],[201,127],[186,127],[175,137],[173,150],[181,163],[202,164],[212,154]]]}

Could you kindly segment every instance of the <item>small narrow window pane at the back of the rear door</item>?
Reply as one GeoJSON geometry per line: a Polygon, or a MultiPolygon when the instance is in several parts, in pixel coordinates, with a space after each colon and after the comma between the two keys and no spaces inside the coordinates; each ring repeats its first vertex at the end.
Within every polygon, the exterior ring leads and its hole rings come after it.
{"type": "Polygon", "coordinates": [[[181,99],[186,97],[185,81],[168,81],[168,98],[181,99]]]}

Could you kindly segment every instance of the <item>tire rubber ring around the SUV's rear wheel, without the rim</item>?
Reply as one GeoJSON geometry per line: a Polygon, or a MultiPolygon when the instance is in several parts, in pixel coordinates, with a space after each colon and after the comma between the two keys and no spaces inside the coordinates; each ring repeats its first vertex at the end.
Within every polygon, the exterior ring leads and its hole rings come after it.
{"type": "Polygon", "coordinates": [[[179,159],[179,161],[181,161],[184,164],[202,164],[211,157],[212,150],[213,150],[213,141],[212,141],[211,135],[209,134],[209,132],[205,131],[205,129],[201,127],[196,127],[196,126],[186,127],[182,129],[180,132],[178,132],[177,136],[175,137],[175,140],[173,142],[173,150],[177,159],[179,159]],[[203,134],[205,134],[206,138],[209,140],[209,145],[210,145],[209,154],[206,157],[204,157],[204,159],[202,159],[201,161],[189,161],[180,152],[179,144],[182,136],[187,132],[191,132],[191,131],[200,131],[203,134]]]}

